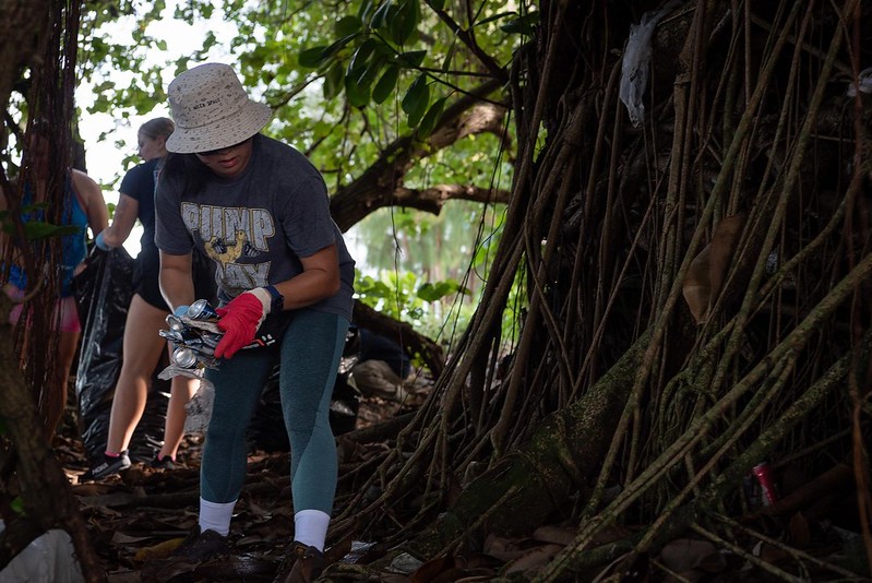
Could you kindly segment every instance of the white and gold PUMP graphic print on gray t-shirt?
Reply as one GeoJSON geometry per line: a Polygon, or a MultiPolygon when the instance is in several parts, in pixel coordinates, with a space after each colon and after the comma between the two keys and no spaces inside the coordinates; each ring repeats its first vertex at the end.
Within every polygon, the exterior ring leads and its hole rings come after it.
{"type": "Polygon", "coordinates": [[[275,221],[268,211],[184,202],[182,218],[190,231],[199,235],[206,255],[218,263],[225,290],[237,295],[268,285],[270,261],[263,259],[275,236],[275,221]]]}

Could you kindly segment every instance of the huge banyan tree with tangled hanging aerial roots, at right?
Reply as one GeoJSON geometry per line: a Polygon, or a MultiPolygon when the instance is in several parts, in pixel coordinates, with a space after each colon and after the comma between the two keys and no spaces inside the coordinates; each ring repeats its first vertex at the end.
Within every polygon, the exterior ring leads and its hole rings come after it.
{"type": "MultiPolygon", "coordinates": [[[[469,326],[444,366],[426,358],[427,401],[341,438],[379,445],[341,475],[329,543],[438,560],[558,525],[569,540],[505,576],[666,579],[679,538],[779,580],[872,570],[872,4],[510,2],[535,17],[506,62],[477,41],[488,2],[359,4],[373,38],[447,25],[478,70],[430,117],[404,104],[427,131],[339,181],[337,224],[459,192],[506,206],[469,326]],[[504,132],[511,192],[404,183],[477,131],[504,132]],[[860,535],[852,568],[802,550],[832,516],[860,535]],[[776,538],[785,561],[750,550],[776,538]]],[[[341,48],[307,53],[338,94],[361,79],[341,48]]]]}

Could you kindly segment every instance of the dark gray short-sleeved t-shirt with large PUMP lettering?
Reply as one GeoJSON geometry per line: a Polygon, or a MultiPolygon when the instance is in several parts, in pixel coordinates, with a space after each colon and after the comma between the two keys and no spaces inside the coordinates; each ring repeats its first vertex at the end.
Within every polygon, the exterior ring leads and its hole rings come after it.
{"type": "Polygon", "coordinates": [[[330,215],[324,179],[306,156],[258,134],[240,176],[210,174],[202,189],[183,190],[181,177],[160,177],[155,243],[176,255],[200,248],[215,262],[222,302],[290,279],[302,272],[299,258],[336,243],[342,285],[312,308],[351,319],[355,261],[330,215]]]}

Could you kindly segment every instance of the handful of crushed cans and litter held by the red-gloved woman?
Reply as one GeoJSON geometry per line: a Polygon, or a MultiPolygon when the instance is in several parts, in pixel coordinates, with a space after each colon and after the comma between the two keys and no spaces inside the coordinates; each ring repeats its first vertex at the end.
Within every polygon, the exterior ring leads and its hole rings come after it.
{"type": "Polygon", "coordinates": [[[170,356],[170,366],[162,373],[169,377],[184,374],[186,377],[200,378],[204,368],[214,368],[218,365],[215,358],[215,347],[220,342],[224,332],[218,328],[218,312],[205,299],[198,299],[182,316],[169,314],[166,318],[169,330],[162,330],[159,334],[167,338],[174,346],[170,356]]]}

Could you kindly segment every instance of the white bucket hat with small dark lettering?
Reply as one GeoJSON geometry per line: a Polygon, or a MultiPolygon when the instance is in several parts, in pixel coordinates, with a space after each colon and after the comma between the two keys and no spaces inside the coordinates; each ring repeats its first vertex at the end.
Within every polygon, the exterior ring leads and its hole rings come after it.
{"type": "Polygon", "coordinates": [[[192,154],[243,142],[272,117],[270,106],[249,99],[232,68],[206,63],[181,73],[167,88],[176,131],[167,150],[192,154]]]}

